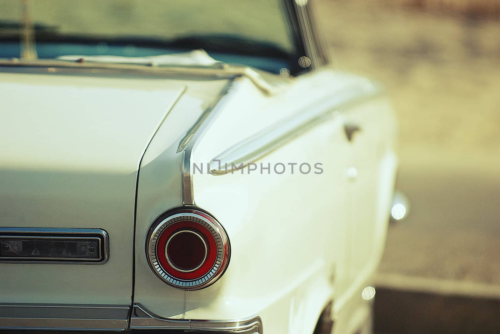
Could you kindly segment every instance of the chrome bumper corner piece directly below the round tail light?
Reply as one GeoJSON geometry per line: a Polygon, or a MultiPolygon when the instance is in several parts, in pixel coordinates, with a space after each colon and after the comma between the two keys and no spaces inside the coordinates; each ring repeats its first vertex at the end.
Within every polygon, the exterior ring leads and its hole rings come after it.
{"type": "Polygon", "coordinates": [[[134,304],[130,329],[205,331],[238,334],[262,334],[262,320],[251,316],[237,320],[189,320],[159,317],[140,304],[134,304]]]}

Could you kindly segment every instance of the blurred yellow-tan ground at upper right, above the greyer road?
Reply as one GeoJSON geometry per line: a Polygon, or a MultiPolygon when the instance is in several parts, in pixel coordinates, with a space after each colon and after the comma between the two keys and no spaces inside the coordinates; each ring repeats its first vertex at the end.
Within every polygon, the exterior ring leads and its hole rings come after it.
{"type": "Polygon", "coordinates": [[[402,154],[414,146],[453,155],[498,152],[498,21],[377,0],[316,2],[337,66],[380,80],[392,95],[402,154]]]}

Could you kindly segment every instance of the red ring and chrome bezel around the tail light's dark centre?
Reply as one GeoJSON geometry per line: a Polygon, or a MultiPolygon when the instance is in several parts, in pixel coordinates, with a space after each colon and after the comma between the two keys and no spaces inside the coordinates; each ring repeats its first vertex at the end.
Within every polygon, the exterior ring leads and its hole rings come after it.
{"type": "Polygon", "coordinates": [[[229,238],[222,225],[212,215],[198,209],[181,208],[166,212],[152,224],[146,240],[147,262],[153,273],[181,290],[199,290],[215,283],[227,269],[230,253],[229,238]],[[194,272],[178,271],[169,266],[167,260],[166,240],[182,229],[195,230],[210,244],[209,254],[194,272]]]}

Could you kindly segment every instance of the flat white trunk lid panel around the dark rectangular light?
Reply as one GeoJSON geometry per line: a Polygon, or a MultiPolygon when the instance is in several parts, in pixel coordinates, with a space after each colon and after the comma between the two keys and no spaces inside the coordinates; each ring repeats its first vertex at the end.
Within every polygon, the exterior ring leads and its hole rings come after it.
{"type": "Polygon", "coordinates": [[[101,228],[110,246],[103,265],[0,263],[1,303],[131,303],[139,161],[186,84],[0,73],[0,226],[101,228]]]}

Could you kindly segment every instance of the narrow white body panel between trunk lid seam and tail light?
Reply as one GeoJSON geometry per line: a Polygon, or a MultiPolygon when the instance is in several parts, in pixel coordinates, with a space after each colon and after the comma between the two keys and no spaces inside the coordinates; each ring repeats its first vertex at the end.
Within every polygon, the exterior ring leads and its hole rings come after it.
{"type": "Polygon", "coordinates": [[[180,166],[184,152],[177,152],[179,143],[226,83],[227,80],[189,82],[142,158],[137,189],[133,301],[145,303],[146,308],[162,317],[185,312],[186,292],[168,286],[149,268],[145,253],[147,232],[159,215],[182,205],[180,166]]]}

